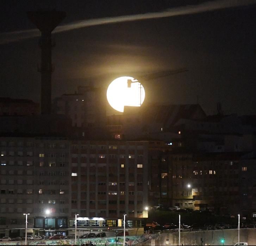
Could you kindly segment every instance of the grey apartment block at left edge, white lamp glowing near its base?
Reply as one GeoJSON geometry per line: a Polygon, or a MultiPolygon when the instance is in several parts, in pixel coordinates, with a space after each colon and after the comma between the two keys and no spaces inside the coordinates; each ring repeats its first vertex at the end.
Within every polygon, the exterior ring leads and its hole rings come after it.
{"type": "Polygon", "coordinates": [[[24,228],[24,213],[30,214],[28,228],[67,228],[69,141],[0,137],[0,148],[0,234],[20,235],[22,232],[15,228],[24,228]]]}

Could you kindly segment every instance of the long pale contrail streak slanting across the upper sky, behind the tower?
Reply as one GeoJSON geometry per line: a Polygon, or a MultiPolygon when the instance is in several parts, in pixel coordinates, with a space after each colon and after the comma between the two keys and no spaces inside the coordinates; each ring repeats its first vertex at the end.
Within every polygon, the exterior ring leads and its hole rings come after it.
{"type": "MultiPolygon", "coordinates": [[[[214,11],[217,9],[246,6],[256,4],[256,0],[218,0],[208,1],[199,5],[188,5],[183,7],[166,9],[161,12],[134,14],[134,15],[122,15],[118,17],[106,17],[100,19],[89,19],[71,22],[67,25],[57,26],[52,33],[65,32],[69,30],[79,29],[88,26],[114,24],[118,22],[127,22],[135,20],[156,19],[164,17],[172,17],[177,15],[197,14],[201,12],[214,11]]],[[[0,44],[7,44],[21,39],[27,39],[40,36],[38,29],[6,32],[0,34],[0,44]]]]}

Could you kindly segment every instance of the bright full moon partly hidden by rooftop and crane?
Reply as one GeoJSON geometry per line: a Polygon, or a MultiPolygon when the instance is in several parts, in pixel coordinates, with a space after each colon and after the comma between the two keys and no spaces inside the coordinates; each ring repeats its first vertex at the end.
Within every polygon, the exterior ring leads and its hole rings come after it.
{"type": "Polygon", "coordinates": [[[124,112],[124,106],[141,106],[144,99],[144,87],[132,77],[119,77],[113,80],[107,88],[107,101],[113,109],[119,112],[124,112]]]}

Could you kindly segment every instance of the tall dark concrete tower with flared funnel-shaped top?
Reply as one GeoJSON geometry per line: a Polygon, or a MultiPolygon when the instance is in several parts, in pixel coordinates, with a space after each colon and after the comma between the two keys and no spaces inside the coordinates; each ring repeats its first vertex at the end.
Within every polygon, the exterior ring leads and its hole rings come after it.
{"type": "Polygon", "coordinates": [[[30,11],[27,17],[41,32],[39,46],[42,49],[41,65],[38,71],[41,72],[41,114],[51,113],[51,49],[54,43],[51,40],[51,32],[65,18],[66,13],[62,11],[30,11]]]}

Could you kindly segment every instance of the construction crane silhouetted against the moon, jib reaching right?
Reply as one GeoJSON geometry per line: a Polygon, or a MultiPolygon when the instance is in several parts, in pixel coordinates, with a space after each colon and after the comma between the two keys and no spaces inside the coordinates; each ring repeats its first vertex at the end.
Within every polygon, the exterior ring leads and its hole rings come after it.
{"type": "Polygon", "coordinates": [[[182,73],[182,72],[186,72],[186,71],[188,71],[188,69],[181,68],[181,69],[176,69],[176,70],[167,70],[167,71],[162,71],[162,72],[157,72],[157,73],[150,73],[148,75],[139,76],[139,80],[137,80],[137,79],[135,79],[135,80],[127,79],[127,88],[131,88],[132,83],[138,83],[138,86],[139,86],[138,89],[139,89],[139,92],[140,92],[140,105],[142,105],[142,88],[144,86],[142,86],[142,83],[140,81],[143,81],[143,83],[145,84],[145,82],[147,82],[148,80],[161,78],[161,77],[166,77],[166,76],[169,76],[169,75],[174,75],[174,74],[182,73]]]}

